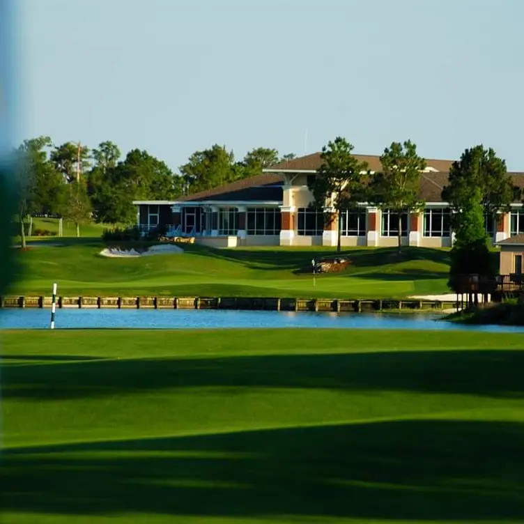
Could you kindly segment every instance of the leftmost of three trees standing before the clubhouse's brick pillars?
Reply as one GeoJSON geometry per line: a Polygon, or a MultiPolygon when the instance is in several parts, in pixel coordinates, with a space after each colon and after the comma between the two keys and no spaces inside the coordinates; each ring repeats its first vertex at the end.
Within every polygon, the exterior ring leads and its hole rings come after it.
{"type": "Polygon", "coordinates": [[[326,204],[337,210],[339,227],[337,252],[341,250],[342,211],[357,206],[364,193],[364,174],[367,163],[359,162],[352,154],[353,145],[337,137],[322,148],[322,165],[308,182],[314,206],[323,209],[326,204]]]}

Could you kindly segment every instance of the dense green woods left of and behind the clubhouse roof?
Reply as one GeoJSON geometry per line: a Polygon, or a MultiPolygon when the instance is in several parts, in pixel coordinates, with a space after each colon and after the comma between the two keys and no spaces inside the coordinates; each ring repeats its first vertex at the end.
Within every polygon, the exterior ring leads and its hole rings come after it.
{"type": "Polygon", "coordinates": [[[50,137],[25,140],[15,151],[17,215],[25,245],[28,215],[59,215],[77,226],[93,220],[109,224],[134,222],[133,200],[172,200],[261,174],[262,169],[295,155],[279,156],[274,148],[254,148],[236,161],[225,146],[193,153],[174,173],[147,151],[125,157],[111,141],[88,148],[72,141],[56,146],[50,137]]]}

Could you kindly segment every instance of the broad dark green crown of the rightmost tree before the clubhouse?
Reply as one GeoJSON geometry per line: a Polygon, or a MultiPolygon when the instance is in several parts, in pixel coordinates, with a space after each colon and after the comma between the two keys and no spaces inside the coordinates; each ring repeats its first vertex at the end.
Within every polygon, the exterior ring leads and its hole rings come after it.
{"type": "Polygon", "coordinates": [[[495,218],[500,211],[509,211],[514,199],[518,199],[518,188],[507,174],[506,162],[497,157],[491,148],[475,146],[466,149],[461,160],[454,162],[449,169],[449,185],[442,190],[442,199],[449,202],[454,211],[454,220],[460,219],[465,205],[479,199],[484,213],[495,218]]]}

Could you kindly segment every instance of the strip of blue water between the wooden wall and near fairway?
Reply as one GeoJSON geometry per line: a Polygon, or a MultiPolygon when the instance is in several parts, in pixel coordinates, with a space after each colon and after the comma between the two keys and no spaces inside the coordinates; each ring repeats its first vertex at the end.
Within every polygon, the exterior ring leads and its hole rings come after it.
{"type": "MultiPolygon", "coordinates": [[[[0,329],[45,329],[49,309],[3,309],[0,329]]],[[[442,316],[410,314],[337,314],[294,311],[224,311],[194,309],[58,309],[56,328],[217,329],[227,327],[318,327],[366,330],[467,330],[522,332],[524,327],[461,325],[442,316]],[[440,320],[439,320],[440,319],[440,320]]]]}

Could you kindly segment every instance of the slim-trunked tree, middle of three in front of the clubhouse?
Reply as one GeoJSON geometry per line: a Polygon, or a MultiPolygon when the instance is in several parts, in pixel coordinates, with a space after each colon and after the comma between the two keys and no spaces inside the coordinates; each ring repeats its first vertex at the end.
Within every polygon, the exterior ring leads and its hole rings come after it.
{"type": "Polygon", "coordinates": [[[399,252],[402,242],[403,213],[419,210],[418,199],[420,178],[426,162],[417,155],[417,146],[407,140],[403,144],[393,142],[380,157],[382,170],[371,176],[369,201],[381,209],[389,209],[399,217],[399,252]]]}

